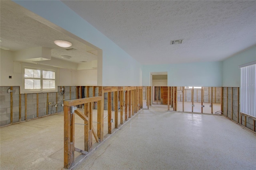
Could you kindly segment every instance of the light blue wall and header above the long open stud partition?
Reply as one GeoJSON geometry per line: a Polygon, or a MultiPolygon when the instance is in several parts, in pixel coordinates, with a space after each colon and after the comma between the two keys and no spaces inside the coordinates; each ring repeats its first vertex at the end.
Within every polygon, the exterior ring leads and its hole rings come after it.
{"type": "Polygon", "coordinates": [[[102,49],[102,86],[141,86],[141,64],[60,1],[14,1],[102,49]]]}

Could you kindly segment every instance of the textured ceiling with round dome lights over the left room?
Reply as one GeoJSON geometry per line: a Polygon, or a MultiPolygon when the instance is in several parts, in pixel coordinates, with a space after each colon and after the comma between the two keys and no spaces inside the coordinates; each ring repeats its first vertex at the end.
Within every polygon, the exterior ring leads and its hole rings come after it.
{"type": "Polygon", "coordinates": [[[14,2],[0,1],[0,3],[0,40],[2,41],[2,47],[10,49],[10,51],[18,51],[33,47],[49,47],[52,49],[52,57],[58,59],[62,59],[61,55],[68,55],[72,58],[62,60],[74,63],[97,60],[96,55],[87,52],[94,51],[95,49],[92,47],[26,16],[19,11],[22,7],[14,2]],[[72,46],[69,48],[58,47],[54,44],[55,40],[69,41],[72,43],[72,46]],[[70,48],[76,50],[65,50],[70,48]]]}

